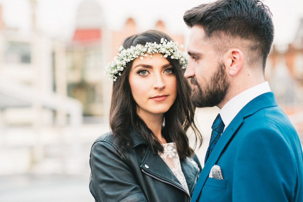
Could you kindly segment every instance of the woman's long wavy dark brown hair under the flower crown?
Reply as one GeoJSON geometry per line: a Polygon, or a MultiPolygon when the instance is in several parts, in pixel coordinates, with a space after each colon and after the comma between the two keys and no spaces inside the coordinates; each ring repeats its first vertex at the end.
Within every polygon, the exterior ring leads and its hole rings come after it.
{"type": "MultiPolygon", "coordinates": [[[[171,41],[171,37],[161,31],[148,30],[141,34],[135,34],[125,39],[123,47],[125,49],[137,44],[145,45],[146,42],[160,44],[161,38],[171,41]]],[[[198,131],[195,122],[195,107],[191,104],[191,88],[183,76],[179,62],[171,59],[167,60],[173,67],[177,78],[177,97],[171,108],[164,113],[165,124],[162,128],[162,135],[167,142],[175,142],[180,158],[191,157],[194,150],[189,147],[186,131],[191,127],[195,134],[195,145],[199,140],[199,147],[202,144],[202,136],[198,131]]],[[[112,101],[109,113],[109,125],[120,152],[123,154],[130,150],[133,140],[128,133],[128,128],[132,127],[138,135],[146,140],[151,150],[155,153],[163,152],[163,146],[156,135],[147,127],[145,122],[137,115],[137,103],[135,102],[128,82],[132,61],[128,62],[121,76],[113,83],[112,101]]]]}

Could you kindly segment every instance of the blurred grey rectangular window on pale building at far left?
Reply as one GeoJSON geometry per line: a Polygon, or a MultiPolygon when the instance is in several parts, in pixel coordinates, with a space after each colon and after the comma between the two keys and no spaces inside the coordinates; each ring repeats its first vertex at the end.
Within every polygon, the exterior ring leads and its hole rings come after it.
{"type": "Polygon", "coordinates": [[[8,41],[5,48],[5,63],[31,63],[31,44],[8,41]]]}

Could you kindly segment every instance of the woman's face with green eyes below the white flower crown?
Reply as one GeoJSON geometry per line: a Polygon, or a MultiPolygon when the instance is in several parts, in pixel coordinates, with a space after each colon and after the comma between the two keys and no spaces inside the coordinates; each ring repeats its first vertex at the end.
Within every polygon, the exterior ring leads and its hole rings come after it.
{"type": "Polygon", "coordinates": [[[162,54],[147,55],[133,61],[128,78],[142,118],[163,115],[177,97],[177,79],[169,61],[162,54]]]}

